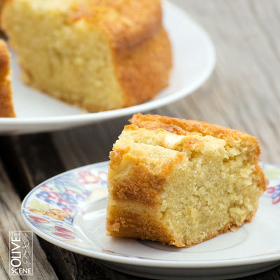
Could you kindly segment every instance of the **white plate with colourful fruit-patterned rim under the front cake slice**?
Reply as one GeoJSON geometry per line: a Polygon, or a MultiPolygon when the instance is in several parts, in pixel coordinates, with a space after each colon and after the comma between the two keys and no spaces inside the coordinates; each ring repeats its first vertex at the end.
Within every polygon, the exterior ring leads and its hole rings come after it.
{"type": "Polygon", "coordinates": [[[107,237],[107,169],[108,162],[87,165],[31,190],[22,202],[29,228],[52,244],[152,279],[225,280],[280,264],[280,167],[262,163],[269,188],[253,222],[190,248],[107,237]]]}

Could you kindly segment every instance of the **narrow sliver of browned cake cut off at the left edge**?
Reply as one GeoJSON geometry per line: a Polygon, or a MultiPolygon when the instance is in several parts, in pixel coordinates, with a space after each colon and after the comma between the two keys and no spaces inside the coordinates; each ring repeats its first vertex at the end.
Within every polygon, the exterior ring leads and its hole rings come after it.
{"type": "Polygon", "coordinates": [[[5,41],[0,39],[0,118],[13,118],[13,94],[10,87],[10,54],[5,41]]]}

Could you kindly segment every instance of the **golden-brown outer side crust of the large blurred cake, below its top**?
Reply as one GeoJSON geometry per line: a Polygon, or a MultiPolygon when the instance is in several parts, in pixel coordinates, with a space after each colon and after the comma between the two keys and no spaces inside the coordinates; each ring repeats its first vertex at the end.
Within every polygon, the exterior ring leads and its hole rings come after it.
{"type": "Polygon", "coordinates": [[[153,38],[134,48],[115,51],[116,74],[125,92],[125,106],[140,104],[167,87],[172,46],[160,27],[153,38]]]}

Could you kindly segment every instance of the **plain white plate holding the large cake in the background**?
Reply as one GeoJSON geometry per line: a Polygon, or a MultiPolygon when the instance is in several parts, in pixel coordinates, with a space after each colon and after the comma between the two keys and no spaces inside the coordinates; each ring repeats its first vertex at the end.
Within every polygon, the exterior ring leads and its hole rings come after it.
{"type": "Polygon", "coordinates": [[[215,51],[211,39],[182,10],[164,1],[164,24],[172,41],[174,67],[169,87],[149,102],[125,109],[83,113],[47,94],[27,87],[13,53],[13,96],[18,118],[0,118],[0,134],[22,134],[62,130],[109,118],[148,111],[174,102],[193,92],[211,74],[215,51]]]}

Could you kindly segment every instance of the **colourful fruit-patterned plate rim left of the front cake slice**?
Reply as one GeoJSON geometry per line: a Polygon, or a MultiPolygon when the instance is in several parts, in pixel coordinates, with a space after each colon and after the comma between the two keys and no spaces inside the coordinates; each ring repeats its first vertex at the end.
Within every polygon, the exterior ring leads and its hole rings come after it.
{"type": "Polygon", "coordinates": [[[60,241],[81,247],[91,244],[78,237],[72,228],[76,214],[83,214],[93,190],[107,188],[108,162],[59,174],[37,186],[22,202],[22,215],[31,225],[60,241]]]}

